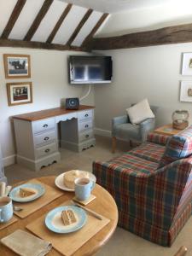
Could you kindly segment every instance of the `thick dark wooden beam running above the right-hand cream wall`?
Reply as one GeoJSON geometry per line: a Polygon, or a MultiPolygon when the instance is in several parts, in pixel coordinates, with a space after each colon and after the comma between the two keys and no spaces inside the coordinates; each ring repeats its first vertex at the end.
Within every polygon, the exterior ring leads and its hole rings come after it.
{"type": "Polygon", "coordinates": [[[192,42],[192,24],[168,26],[154,31],[136,32],[119,37],[94,38],[90,49],[125,49],[161,44],[192,42]]]}

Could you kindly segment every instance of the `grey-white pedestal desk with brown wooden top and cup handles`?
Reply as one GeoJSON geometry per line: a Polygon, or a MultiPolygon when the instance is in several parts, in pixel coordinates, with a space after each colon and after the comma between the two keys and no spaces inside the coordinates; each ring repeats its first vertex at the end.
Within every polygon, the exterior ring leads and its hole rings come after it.
{"type": "Polygon", "coordinates": [[[94,107],[81,105],[79,110],[51,108],[13,116],[17,163],[38,171],[61,160],[58,150],[58,124],[61,147],[82,151],[95,146],[94,107]]]}

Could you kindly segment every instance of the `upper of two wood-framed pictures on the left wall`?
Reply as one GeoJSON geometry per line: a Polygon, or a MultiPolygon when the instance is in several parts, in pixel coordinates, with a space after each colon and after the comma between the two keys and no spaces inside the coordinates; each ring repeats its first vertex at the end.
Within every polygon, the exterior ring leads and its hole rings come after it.
{"type": "Polygon", "coordinates": [[[6,79],[31,78],[30,55],[3,55],[6,79]]]}

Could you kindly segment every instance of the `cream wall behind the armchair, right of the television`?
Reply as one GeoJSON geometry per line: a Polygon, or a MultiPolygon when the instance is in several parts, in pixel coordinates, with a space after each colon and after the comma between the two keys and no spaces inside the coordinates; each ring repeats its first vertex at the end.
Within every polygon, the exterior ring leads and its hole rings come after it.
{"type": "Polygon", "coordinates": [[[189,110],[192,124],[192,102],[179,102],[179,81],[192,81],[180,74],[183,52],[192,52],[192,44],[102,51],[113,57],[113,83],[95,86],[96,131],[109,134],[111,119],[145,97],[159,106],[157,125],[171,123],[175,109],[189,110]]]}

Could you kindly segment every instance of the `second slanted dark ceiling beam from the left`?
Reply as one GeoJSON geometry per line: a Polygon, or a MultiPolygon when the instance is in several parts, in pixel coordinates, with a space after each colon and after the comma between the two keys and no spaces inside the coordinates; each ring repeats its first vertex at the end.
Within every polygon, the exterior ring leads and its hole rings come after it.
{"type": "Polygon", "coordinates": [[[34,35],[34,33],[37,31],[38,26],[40,25],[41,21],[44,19],[44,16],[49,10],[50,5],[53,3],[54,0],[44,0],[44,4],[42,5],[41,9],[38,12],[38,15],[36,16],[35,20],[32,22],[32,26],[26,33],[26,36],[24,38],[25,41],[30,41],[34,35]]]}

